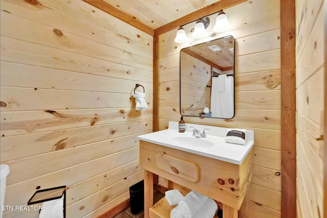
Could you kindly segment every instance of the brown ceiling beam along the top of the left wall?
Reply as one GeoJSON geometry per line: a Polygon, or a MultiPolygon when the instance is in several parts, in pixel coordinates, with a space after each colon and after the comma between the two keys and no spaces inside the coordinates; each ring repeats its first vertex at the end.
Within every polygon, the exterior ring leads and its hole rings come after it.
{"type": "Polygon", "coordinates": [[[88,4],[91,4],[92,6],[99,8],[100,10],[103,10],[104,12],[107,12],[108,14],[111,14],[112,16],[118,19],[125,21],[126,23],[132,25],[133,27],[136,27],[139,30],[142,30],[152,36],[154,35],[154,30],[151,27],[148,27],[147,25],[138,21],[136,18],[116,9],[115,7],[109,5],[108,3],[102,0],[83,0],[83,1],[87,2],[88,4]]]}

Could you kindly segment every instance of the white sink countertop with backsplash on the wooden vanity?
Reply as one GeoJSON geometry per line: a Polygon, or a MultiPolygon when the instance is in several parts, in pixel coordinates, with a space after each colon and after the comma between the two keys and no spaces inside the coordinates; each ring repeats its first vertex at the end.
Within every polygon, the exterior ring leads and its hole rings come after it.
{"type": "Polygon", "coordinates": [[[229,128],[186,123],[185,133],[179,133],[178,122],[169,122],[169,128],[154,133],[138,136],[137,139],[196,155],[240,165],[254,145],[253,130],[245,131],[245,145],[224,141],[229,128]],[[208,128],[206,138],[192,136],[193,126],[200,130],[208,128]]]}

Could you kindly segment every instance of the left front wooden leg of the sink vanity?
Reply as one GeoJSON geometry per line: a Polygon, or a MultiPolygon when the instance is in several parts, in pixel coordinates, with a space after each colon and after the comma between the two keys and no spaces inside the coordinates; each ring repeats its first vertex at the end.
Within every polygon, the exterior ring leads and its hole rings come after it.
{"type": "Polygon", "coordinates": [[[144,170],[144,217],[149,218],[149,208],[153,205],[153,173],[144,170]]]}

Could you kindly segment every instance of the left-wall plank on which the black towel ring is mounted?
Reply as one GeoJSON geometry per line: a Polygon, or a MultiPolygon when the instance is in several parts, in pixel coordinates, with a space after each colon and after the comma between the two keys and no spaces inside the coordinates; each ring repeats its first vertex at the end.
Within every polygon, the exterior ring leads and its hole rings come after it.
{"type": "MultiPolygon", "coordinates": [[[[147,94],[152,94],[152,83],[126,80],[100,75],[82,74],[58,69],[42,68],[26,64],[0,62],[1,85],[56,90],[131,93],[136,83],[142,83],[147,94]],[[16,78],[21,78],[17,80],[16,78]],[[126,89],[130,87],[130,89],[126,89]]],[[[136,78],[135,78],[136,79],[136,78]]]]}

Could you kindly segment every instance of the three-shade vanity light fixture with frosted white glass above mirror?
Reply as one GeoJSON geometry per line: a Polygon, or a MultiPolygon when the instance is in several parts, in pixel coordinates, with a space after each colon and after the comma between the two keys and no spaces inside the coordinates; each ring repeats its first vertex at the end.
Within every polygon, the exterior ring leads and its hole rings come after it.
{"type": "MultiPolygon", "coordinates": [[[[209,15],[212,15],[212,14],[209,14],[209,15]]],[[[205,31],[205,29],[209,26],[209,23],[210,23],[210,19],[208,16],[206,16],[204,18],[202,17],[196,21],[193,32],[191,31],[193,38],[202,38],[202,37],[206,37],[208,35],[207,32],[205,31]]],[[[190,23],[192,23],[192,22],[193,21],[191,21],[190,23]]],[[[187,23],[187,24],[190,24],[190,23],[187,23]]],[[[186,24],[184,24],[184,25],[186,25],[186,24]]],[[[182,25],[182,26],[184,26],[184,25],[182,25]]],[[[177,30],[176,38],[174,40],[176,43],[183,43],[188,40],[188,37],[186,36],[185,30],[183,29],[182,26],[180,26],[177,30]]],[[[229,27],[230,27],[230,24],[228,22],[225,12],[223,12],[223,10],[220,10],[218,12],[218,15],[216,18],[216,24],[213,28],[214,32],[224,32],[224,31],[228,30],[229,27]]]]}

